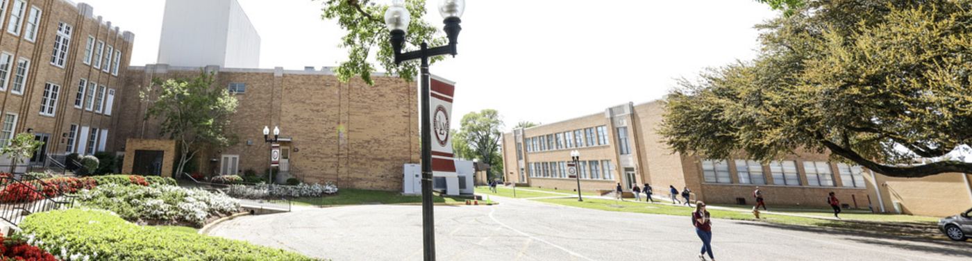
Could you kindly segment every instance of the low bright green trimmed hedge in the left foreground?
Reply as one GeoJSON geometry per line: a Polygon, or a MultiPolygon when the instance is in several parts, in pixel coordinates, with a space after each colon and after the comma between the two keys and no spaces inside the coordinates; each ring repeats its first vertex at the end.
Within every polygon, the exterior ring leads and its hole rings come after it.
{"type": "Polygon", "coordinates": [[[87,255],[91,261],[316,260],[279,248],[143,227],[106,211],[39,212],[24,218],[20,227],[55,255],[87,255]]]}

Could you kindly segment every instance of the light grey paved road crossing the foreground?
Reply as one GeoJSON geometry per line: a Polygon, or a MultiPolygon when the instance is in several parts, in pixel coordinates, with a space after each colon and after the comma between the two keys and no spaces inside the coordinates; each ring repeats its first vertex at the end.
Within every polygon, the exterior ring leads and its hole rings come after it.
{"type": "MultiPolygon", "coordinates": [[[[493,198],[502,204],[435,207],[436,260],[698,260],[686,216],[493,198]]],[[[972,243],[725,219],[712,229],[717,260],[972,259],[972,243]]],[[[420,206],[295,207],[209,234],[335,261],[422,260],[420,206]]]]}

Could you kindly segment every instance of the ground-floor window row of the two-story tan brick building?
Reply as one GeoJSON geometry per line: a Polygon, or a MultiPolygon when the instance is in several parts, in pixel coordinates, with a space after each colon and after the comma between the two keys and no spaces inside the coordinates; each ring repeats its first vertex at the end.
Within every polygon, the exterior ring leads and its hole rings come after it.
{"type": "MultiPolygon", "coordinates": [[[[530,177],[536,178],[563,178],[567,179],[568,161],[560,162],[536,162],[527,163],[527,173],[530,177]]],[[[610,165],[610,160],[590,160],[578,161],[577,175],[580,179],[614,179],[614,167],[610,165]]]]}

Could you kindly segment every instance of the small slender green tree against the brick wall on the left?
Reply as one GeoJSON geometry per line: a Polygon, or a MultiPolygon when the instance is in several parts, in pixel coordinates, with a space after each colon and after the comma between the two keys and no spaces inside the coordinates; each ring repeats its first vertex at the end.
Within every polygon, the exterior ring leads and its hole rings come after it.
{"type": "Polygon", "coordinates": [[[142,101],[149,104],[145,119],[160,118],[158,135],[168,135],[181,145],[176,174],[181,174],[186,163],[199,152],[201,146],[197,145],[228,147],[238,140],[235,134],[226,134],[229,116],[236,113],[236,97],[213,83],[212,74],[200,71],[191,79],[156,78],[139,93],[142,101]]]}

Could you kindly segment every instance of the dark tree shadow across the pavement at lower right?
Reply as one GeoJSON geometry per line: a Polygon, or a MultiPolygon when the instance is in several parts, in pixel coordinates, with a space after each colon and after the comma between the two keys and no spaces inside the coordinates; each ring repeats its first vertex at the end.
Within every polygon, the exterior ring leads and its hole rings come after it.
{"type": "Polygon", "coordinates": [[[788,224],[780,224],[780,223],[740,222],[740,224],[750,225],[755,227],[772,227],[772,228],[785,229],[785,230],[812,232],[817,234],[853,236],[856,238],[848,238],[847,240],[857,242],[860,244],[890,246],[894,248],[907,249],[912,251],[937,253],[937,254],[947,255],[950,257],[972,258],[972,243],[970,242],[955,242],[948,239],[934,239],[934,238],[917,237],[917,236],[885,234],[885,233],[878,233],[878,232],[871,232],[871,231],[834,229],[828,227],[799,226],[799,225],[788,225],[788,224]],[[902,241],[902,242],[893,242],[893,241],[902,241]],[[909,242],[922,243],[922,244],[920,245],[909,244],[909,242]]]}

